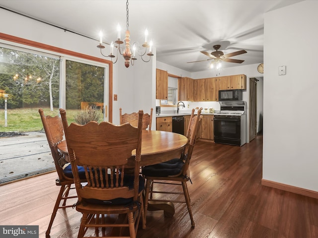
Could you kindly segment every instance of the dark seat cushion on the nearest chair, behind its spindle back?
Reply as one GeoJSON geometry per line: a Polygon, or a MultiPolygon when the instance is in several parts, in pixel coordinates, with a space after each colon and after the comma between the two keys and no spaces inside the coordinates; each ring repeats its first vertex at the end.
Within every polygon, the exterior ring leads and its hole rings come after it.
{"type": "MultiPolygon", "coordinates": [[[[115,179],[114,179],[115,180],[115,179]]],[[[115,181],[114,181],[115,182],[115,181]]],[[[120,183],[120,181],[119,181],[120,183]]],[[[124,176],[124,186],[128,186],[129,188],[133,189],[134,188],[134,176],[131,175],[125,175],[124,176]]],[[[142,176],[139,176],[139,187],[138,187],[138,192],[140,193],[145,189],[145,179],[142,176]]],[[[112,200],[108,201],[102,201],[94,198],[90,199],[83,199],[84,203],[94,203],[94,204],[105,204],[105,205],[128,205],[133,202],[133,197],[131,198],[115,198],[112,200]]]]}

